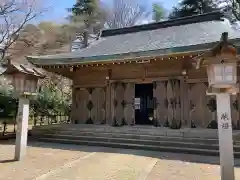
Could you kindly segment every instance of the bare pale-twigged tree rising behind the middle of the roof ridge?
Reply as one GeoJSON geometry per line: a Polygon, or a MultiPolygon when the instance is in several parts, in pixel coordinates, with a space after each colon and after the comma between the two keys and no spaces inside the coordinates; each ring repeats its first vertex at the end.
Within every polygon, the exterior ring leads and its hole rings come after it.
{"type": "MultiPolygon", "coordinates": [[[[104,8],[106,9],[106,8],[104,8]]],[[[137,0],[113,0],[113,6],[106,9],[106,26],[123,28],[141,23],[150,12],[137,0]]]]}

